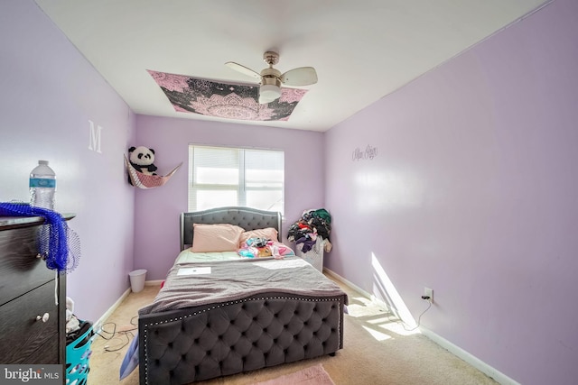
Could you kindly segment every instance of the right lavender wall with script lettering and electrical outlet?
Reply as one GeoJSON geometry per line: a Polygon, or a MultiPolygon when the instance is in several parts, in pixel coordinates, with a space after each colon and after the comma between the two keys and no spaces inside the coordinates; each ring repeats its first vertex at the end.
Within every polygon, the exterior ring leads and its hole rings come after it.
{"type": "Polygon", "coordinates": [[[577,20],[557,0],[326,133],[329,268],[415,318],[432,288],[422,325],[524,384],[578,378],[577,20]]]}

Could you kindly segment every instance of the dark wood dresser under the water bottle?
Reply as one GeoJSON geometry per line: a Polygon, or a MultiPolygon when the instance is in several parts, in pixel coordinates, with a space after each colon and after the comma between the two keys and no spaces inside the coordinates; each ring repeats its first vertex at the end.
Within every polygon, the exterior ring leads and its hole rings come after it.
{"type": "Polygon", "coordinates": [[[0,217],[0,363],[62,364],[64,374],[66,275],[38,257],[43,223],[35,216],[0,217]]]}

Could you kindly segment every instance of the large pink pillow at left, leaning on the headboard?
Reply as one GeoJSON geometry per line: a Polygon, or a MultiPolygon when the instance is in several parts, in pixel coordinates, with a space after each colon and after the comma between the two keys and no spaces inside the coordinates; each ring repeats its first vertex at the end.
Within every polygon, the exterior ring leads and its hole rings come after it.
{"type": "Polygon", "coordinates": [[[243,227],[228,224],[192,225],[192,252],[237,252],[243,227]]]}

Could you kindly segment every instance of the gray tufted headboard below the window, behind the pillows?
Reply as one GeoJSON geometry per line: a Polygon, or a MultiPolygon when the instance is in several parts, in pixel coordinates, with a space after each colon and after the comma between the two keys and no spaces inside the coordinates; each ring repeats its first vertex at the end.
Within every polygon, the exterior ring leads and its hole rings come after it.
{"type": "Polygon", "coordinates": [[[281,234],[281,213],[256,208],[229,206],[181,214],[181,250],[192,244],[192,224],[231,224],[245,230],[273,227],[281,234]]]}

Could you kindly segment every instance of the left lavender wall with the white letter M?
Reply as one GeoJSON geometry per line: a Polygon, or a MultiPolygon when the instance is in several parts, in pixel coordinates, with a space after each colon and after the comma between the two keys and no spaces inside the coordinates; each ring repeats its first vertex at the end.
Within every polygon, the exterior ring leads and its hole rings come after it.
{"type": "Polygon", "coordinates": [[[0,47],[0,200],[28,201],[30,171],[50,160],[56,208],[77,215],[70,228],[81,242],[68,295],[77,316],[97,320],[133,267],[134,191],[123,153],[135,116],[32,0],[0,2],[0,47]],[[89,120],[103,127],[100,153],[89,150],[89,120]]]}

